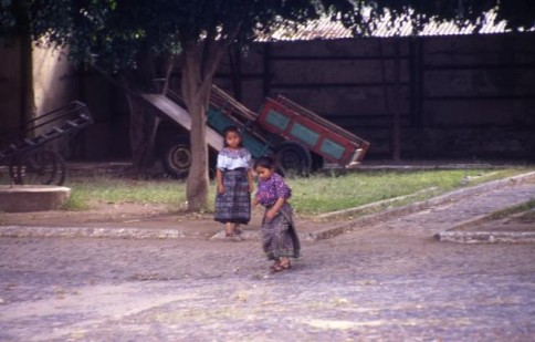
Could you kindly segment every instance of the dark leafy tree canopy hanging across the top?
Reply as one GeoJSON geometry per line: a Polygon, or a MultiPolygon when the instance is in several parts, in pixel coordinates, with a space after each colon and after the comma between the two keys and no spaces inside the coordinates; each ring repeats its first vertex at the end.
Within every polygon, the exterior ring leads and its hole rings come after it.
{"type": "Polygon", "coordinates": [[[75,61],[97,58],[117,71],[136,68],[143,49],[179,54],[187,41],[212,37],[246,43],[256,34],[319,15],[367,34],[386,15],[410,20],[418,31],[430,20],[481,24],[491,11],[512,30],[535,27],[535,2],[529,0],[3,0],[0,38],[46,37],[69,45],[75,61]]]}

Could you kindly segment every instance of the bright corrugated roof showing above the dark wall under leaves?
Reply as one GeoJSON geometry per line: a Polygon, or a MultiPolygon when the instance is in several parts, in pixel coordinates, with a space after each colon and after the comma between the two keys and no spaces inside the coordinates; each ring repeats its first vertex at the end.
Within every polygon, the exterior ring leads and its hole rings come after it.
{"type": "MultiPolygon", "coordinates": [[[[479,31],[480,34],[493,34],[508,32],[505,22],[499,22],[494,24],[491,13],[487,15],[487,20],[479,31]]],[[[463,28],[458,27],[453,22],[437,23],[431,22],[427,24],[421,32],[417,35],[430,37],[430,35],[462,35],[475,33],[474,25],[466,25],[463,28]]],[[[377,28],[371,32],[369,37],[408,37],[412,34],[412,27],[410,22],[403,22],[395,25],[394,28],[388,21],[381,21],[377,24],[377,28]]],[[[259,41],[307,41],[307,40],[333,40],[353,38],[352,31],[344,28],[338,21],[331,21],[329,18],[322,18],[318,20],[310,21],[306,25],[301,25],[296,31],[286,29],[277,30],[270,37],[259,38],[259,41]]]]}

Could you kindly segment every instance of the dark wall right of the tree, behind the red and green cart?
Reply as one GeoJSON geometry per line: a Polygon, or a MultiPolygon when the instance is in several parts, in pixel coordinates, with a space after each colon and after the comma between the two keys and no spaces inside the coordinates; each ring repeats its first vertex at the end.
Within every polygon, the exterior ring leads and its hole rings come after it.
{"type": "Polygon", "coordinates": [[[217,81],[253,110],[264,94],[301,103],[368,139],[371,158],[391,155],[399,111],[402,157],[535,159],[535,34],[399,43],[399,55],[394,38],[255,44],[217,81]]]}

